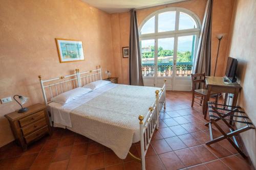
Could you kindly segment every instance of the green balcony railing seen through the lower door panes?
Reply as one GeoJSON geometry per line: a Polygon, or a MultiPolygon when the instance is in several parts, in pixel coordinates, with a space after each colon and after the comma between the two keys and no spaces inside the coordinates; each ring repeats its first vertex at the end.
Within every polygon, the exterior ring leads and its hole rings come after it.
{"type": "MultiPolygon", "coordinates": [[[[176,66],[176,77],[187,77],[191,75],[193,62],[179,62],[176,66]]],[[[141,66],[142,76],[154,76],[154,64],[145,63],[141,66]]],[[[173,76],[173,62],[159,63],[157,65],[157,76],[171,77],[173,76]]]]}

